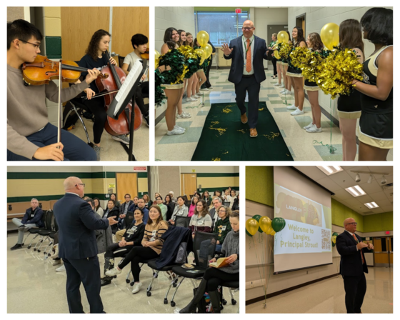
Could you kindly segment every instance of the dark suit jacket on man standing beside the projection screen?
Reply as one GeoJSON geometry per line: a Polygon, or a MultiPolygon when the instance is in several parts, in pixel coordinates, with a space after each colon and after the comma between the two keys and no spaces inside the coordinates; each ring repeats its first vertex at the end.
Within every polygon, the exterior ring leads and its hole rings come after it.
{"type": "MultiPolygon", "coordinates": [[[[361,237],[356,234],[356,238],[361,242],[361,237]]],[[[368,251],[362,249],[364,264],[362,263],[360,251],[357,250],[357,242],[349,232],[344,231],[336,237],[336,249],[340,254],[340,274],[342,276],[361,276],[364,272],[368,274],[364,253],[368,251]]]]}

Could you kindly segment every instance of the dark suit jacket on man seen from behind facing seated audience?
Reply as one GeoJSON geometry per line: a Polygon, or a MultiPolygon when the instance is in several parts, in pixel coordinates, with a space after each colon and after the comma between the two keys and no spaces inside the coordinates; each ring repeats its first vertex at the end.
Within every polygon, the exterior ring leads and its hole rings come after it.
{"type": "Polygon", "coordinates": [[[86,259],[97,255],[94,230],[107,229],[109,221],[100,219],[88,202],[75,194],[65,194],[54,204],[59,224],[59,257],[86,259]]]}

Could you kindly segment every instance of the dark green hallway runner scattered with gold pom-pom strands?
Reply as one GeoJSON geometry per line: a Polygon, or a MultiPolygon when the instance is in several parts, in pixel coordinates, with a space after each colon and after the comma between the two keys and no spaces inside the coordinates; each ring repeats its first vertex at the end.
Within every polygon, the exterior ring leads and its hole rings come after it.
{"type": "Polygon", "coordinates": [[[293,161],[264,101],[259,102],[256,129],[259,136],[250,138],[236,103],[211,104],[191,161],[293,161]]]}

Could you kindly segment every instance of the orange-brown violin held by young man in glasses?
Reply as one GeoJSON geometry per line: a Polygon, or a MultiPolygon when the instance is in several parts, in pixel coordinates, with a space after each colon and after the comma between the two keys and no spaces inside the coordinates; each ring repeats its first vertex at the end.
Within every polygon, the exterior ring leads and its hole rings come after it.
{"type": "MultiPolygon", "coordinates": [[[[59,62],[51,61],[46,56],[37,55],[31,64],[22,64],[23,80],[33,86],[41,84],[49,84],[51,80],[59,79],[59,70],[61,64],[61,81],[73,84],[78,81],[81,72],[87,72],[87,68],[81,68],[74,61],[60,60],[59,62]]],[[[99,78],[107,79],[108,74],[99,74],[99,78]]]]}

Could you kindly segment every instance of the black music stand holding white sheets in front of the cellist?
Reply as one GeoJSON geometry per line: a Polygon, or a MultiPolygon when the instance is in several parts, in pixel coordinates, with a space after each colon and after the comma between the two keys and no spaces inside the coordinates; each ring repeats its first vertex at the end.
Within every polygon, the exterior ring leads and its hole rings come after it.
{"type": "MultiPolygon", "coordinates": [[[[147,69],[147,61],[146,60],[140,60],[141,63],[143,64],[143,69],[141,70],[139,76],[137,77],[136,81],[134,82],[134,85],[131,88],[126,88],[125,90],[128,90],[128,94],[126,95],[125,99],[122,99],[121,101],[117,101],[116,99],[113,99],[111,101],[111,104],[109,106],[109,109],[107,110],[108,116],[111,116],[113,119],[118,119],[119,115],[122,113],[122,111],[126,110],[127,115],[129,114],[129,111],[123,107],[129,104],[129,100],[132,99],[132,111],[131,111],[131,120],[129,123],[130,126],[130,132],[129,132],[129,154],[128,154],[128,161],[137,161],[135,156],[134,156],[134,124],[135,124],[135,98],[136,98],[136,89],[139,86],[139,82],[141,80],[141,77],[145,73],[147,69]],[[118,109],[118,112],[116,115],[114,115],[114,111],[118,109]]],[[[125,82],[124,82],[125,84],[125,82]]],[[[122,86],[124,86],[122,84],[122,86]]],[[[121,88],[122,88],[121,86],[121,88]]],[[[121,89],[120,89],[121,90],[121,89]]],[[[128,117],[129,119],[129,117],[128,117]]]]}

